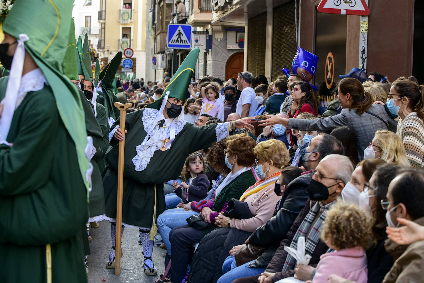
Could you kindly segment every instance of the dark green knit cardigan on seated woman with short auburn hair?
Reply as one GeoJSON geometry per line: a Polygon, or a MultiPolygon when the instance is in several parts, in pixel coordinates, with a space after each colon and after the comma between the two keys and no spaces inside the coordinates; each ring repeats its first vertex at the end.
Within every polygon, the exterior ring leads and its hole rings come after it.
{"type": "MultiPolygon", "coordinates": [[[[242,196],[247,188],[253,186],[255,183],[256,179],[251,170],[243,172],[222,189],[215,199],[213,210],[217,212],[222,211],[226,202],[232,198],[240,199],[240,196],[242,196]]],[[[215,228],[217,228],[217,226],[204,230],[202,238],[215,228]]]]}

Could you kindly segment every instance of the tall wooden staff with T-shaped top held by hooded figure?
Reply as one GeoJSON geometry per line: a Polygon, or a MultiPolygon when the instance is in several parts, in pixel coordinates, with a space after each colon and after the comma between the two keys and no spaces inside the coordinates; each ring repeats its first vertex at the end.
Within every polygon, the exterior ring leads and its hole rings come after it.
{"type": "Polygon", "coordinates": [[[131,107],[131,103],[122,104],[120,102],[114,103],[115,107],[119,109],[119,128],[124,137],[119,142],[119,155],[118,155],[118,196],[116,201],[116,244],[115,244],[115,275],[121,274],[121,225],[122,225],[122,190],[124,182],[124,149],[125,149],[125,114],[126,109],[131,107]]]}

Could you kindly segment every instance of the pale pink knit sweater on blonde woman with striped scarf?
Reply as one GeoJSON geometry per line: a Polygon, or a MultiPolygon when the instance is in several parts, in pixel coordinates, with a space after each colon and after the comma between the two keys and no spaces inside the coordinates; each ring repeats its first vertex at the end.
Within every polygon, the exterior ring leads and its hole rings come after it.
{"type": "Polygon", "coordinates": [[[231,219],[230,227],[246,232],[254,232],[254,230],[271,219],[279,199],[281,199],[281,196],[277,196],[274,193],[274,183],[257,193],[251,194],[244,202],[248,203],[253,217],[249,219],[231,219]]]}

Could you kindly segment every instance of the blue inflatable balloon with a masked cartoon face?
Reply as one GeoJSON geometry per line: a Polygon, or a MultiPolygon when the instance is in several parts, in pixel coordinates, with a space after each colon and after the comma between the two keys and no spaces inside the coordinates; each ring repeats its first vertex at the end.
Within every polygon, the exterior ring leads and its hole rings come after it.
{"type": "Polygon", "coordinates": [[[304,81],[310,81],[317,70],[318,56],[298,47],[293,58],[292,73],[298,74],[304,81]]]}

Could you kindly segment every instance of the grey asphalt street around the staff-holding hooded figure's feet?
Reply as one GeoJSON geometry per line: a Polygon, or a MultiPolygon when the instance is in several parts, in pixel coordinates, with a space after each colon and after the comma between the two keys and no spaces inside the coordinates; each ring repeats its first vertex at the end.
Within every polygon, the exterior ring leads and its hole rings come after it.
{"type": "Polygon", "coordinates": [[[103,220],[100,228],[90,229],[92,241],[90,243],[91,255],[88,256],[88,282],[89,283],[153,283],[159,279],[159,275],[165,271],[165,250],[153,247],[153,263],[158,269],[157,276],[147,276],[143,271],[143,247],[138,244],[138,229],[126,227],[122,237],[123,257],[121,258],[121,274],[115,275],[114,269],[106,269],[106,262],[109,260],[111,242],[111,224],[103,220]],[[106,279],[106,281],[102,281],[106,279]]]}

